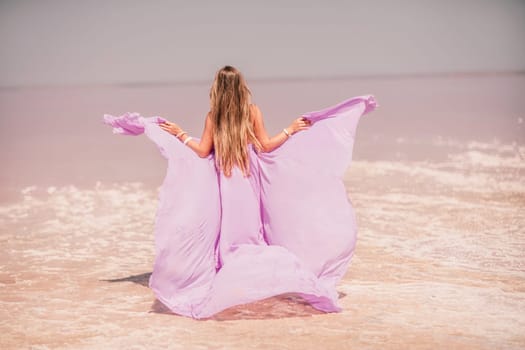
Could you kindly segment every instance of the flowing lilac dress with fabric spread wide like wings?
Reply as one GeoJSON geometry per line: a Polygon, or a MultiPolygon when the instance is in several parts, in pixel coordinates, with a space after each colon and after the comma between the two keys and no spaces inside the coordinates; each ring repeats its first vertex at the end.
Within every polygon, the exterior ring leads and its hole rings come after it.
{"type": "Polygon", "coordinates": [[[375,107],[364,95],[305,113],[309,130],[270,153],[250,145],[251,176],[234,167],[230,178],[213,152],[200,158],[162,130],[163,118],[104,115],[114,133],[145,133],[168,160],[149,280],[156,297],[193,318],[283,293],[340,311],[336,284],[357,237],[343,174],[359,119],[375,107]]]}

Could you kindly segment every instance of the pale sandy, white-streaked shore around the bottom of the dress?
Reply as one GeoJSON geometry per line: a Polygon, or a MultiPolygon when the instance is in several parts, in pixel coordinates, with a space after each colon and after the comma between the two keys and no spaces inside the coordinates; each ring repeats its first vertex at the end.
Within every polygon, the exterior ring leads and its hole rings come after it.
{"type": "Polygon", "coordinates": [[[456,145],[439,163],[355,161],[343,312],[285,295],[204,321],[171,314],[147,287],[158,188],[27,187],[0,209],[0,346],[523,348],[524,174],[501,144],[456,145]]]}

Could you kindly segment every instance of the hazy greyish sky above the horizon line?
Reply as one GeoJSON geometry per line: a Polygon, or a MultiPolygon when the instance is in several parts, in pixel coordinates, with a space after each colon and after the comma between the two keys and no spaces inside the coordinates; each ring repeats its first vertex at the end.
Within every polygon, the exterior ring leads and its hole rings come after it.
{"type": "Polygon", "coordinates": [[[524,0],[0,2],[0,86],[525,71],[524,0]]]}

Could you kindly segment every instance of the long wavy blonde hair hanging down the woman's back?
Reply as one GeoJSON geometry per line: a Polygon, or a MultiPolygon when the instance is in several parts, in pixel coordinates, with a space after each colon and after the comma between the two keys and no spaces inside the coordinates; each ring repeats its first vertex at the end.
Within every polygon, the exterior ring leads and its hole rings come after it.
{"type": "Polygon", "coordinates": [[[250,176],[248,142],[257,151],[262,148],[250,119],[250,97],[250,89],[239,70],[224,66],[217,71],[210,90],[210,114],[215,162],[226,177],[231,176],[235,165],[243,176],[250,176]]]}

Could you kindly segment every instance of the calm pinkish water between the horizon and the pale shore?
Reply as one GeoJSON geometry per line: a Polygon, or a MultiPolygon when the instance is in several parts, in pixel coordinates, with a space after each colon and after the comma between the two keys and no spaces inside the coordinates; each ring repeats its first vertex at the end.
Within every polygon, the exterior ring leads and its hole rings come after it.
{"type": "MultiPolygon", "coordinates": [[[[250,87],[273,132],[303,112],[373,93],[381,108],[360,123],[356,160],[443,160],[451,142],[525,142],[525,75],[255,81],[250,87]]],[[[114,137],[101,116],[160,115],[200,136],[208,89],[196,83],[0,90],[0,201],[31,185],[159,184],[164,161],[155,147],[144,138],[114,137]]]]}

